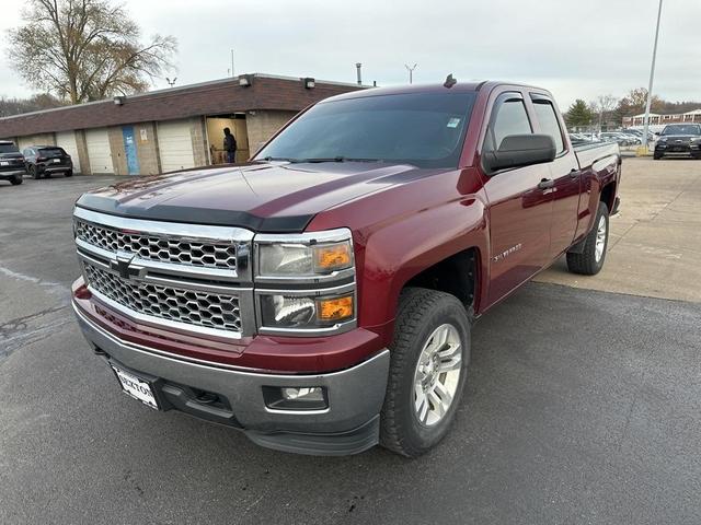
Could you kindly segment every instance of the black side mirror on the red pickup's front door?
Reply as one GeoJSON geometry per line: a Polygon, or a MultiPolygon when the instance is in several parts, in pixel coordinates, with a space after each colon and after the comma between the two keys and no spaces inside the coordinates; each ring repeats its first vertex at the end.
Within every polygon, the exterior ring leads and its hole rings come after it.
{"type": "Polygon", "coordinates": [[[495,172],[508,167],[530,166],[555,159],[555,141],[549,135],[509,135],[497,151],[485,155],[485,167],[495,172]]]}

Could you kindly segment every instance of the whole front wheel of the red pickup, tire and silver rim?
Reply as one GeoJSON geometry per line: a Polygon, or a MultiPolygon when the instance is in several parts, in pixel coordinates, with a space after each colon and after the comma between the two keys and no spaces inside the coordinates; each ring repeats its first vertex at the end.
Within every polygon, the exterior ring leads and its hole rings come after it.
{"type": "Polygon", "coordinates": [[[407,288],[390,347],[380,443],[407,457],[436,445],[455,419],[470,360],[470,324],[448,293],[407,288]]]}

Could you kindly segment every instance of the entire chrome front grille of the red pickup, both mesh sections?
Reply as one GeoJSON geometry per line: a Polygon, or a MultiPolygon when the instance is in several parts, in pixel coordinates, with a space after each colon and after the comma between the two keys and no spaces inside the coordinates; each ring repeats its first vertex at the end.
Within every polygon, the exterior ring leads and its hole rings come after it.
{"type": "Polygon", "coordinates": [[[74,210],[83,278],[99,301],[139,323],[238,339],[255,332],[250,252],[239,228],[74,210]]]}

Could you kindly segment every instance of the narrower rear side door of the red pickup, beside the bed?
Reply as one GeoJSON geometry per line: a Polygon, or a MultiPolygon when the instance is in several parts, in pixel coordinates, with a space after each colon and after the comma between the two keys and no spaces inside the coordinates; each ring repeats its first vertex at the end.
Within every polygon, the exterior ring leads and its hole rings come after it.
{"type": "Polygon", "coordinates": [[[554,186],[552,195],[552,222],[550,232],[550,260],[559,257],[574,241],[582,174],[574,152],[564,138],[564,129],[552,100],[540,93],[530,93],[538,132],[550,135],[558,150],[555,160],[549,163],[554,186]]]}

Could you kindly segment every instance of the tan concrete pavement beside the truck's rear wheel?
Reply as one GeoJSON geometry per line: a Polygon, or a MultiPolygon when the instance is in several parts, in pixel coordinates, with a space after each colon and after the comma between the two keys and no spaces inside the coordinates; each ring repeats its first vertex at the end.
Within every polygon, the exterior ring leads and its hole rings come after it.
{"type": "Polygon", "coordinates": [[[562,257],[536,280],[701,302],[701,162],[624,159],[620,196],[601,272],[570,273],[562,257]]]}

